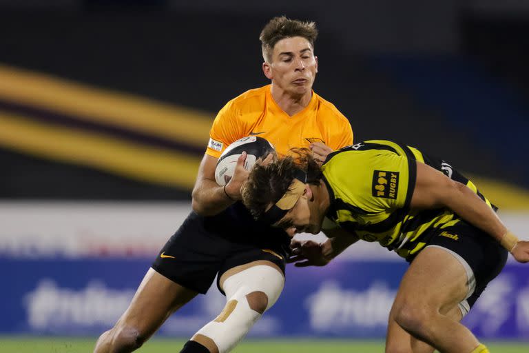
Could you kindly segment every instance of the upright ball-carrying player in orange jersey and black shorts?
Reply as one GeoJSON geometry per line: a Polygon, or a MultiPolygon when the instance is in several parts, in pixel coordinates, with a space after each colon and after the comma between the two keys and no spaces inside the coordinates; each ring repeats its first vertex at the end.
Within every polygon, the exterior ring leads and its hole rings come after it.
{"type": "MultiPolygon", "coordinates": [[[[223,150],[242,137],[269,140],[278,154],[311,148],[323,161],[332,150],[353,143],[349,121],[312,90],[318,72],[313,22],[271,19],[260,34],[264,75],[270,85],[229,101],[213,123],[193,190],[193,212],[160,250],[132,303],[114,327],[98,339],[95,352],[132,352],[169,315],[207,292],[217,275],[227,303],[181,352],[229,352],[280,296],[289,236],[254,221],[238,202],[249,172],[238,159],[225,188],[214,177],[223,150]]],[[[271,161],[269,155],[267,160],[271,161]]]]}

